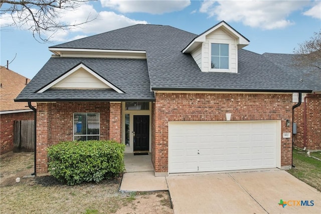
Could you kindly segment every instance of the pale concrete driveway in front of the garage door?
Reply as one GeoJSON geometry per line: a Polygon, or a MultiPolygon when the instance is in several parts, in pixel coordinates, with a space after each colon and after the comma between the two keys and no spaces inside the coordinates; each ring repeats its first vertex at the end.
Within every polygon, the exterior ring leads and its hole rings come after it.
{"type": "Polygon", "coordinates": [[[282,170],[166,179],[176,214],[321,213],[321,193],[282,170]],[[284,208],[280,199],[288,203],[284,208]],[[301,200],[304,204],[298,205],[301,200]]]}

